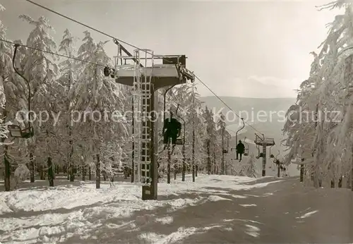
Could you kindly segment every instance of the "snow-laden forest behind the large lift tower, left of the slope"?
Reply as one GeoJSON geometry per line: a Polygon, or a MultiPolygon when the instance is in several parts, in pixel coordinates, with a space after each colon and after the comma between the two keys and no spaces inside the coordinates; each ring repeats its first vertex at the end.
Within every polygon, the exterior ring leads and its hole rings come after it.
{"type": "MultiPolygon", "coordinates": [[[[1,11],[6,10],[1,7],[1,11]]],[[[104,75],[104,66],[114,66],[114,60],[104,51],[107,42],[95,41],[89,31],[76,37],[65,30],[61,42],[56,43],[51,36],[54,28],[47,18],[33,20],[26,15],[19,18],[32,28],[24,42],[7,39],[6,27],[0,22],[1,155],[5,190],[11,190],[11,174],[18,168],[30,171],[30,182],[35,182],[35,176],[39,175],[41,180],[48,177],[52,186],[58,173],[66,173],[70,181],[76,175],[83,181],[93,176],[97,176],[97,181],[100,176],[107,181],[118,172],[130,176],[132,91],[131,87],[119,85],[104,75]],[[13,69],[14,44],[20,44],[14,65],[29,84],[13,69]],[[9,124],[23,129],[32,126],[34,136],[12,138],[9,124]]],[[[164,91],[159,91],[157,111],[163,111],[164,91]]],[[[220,114],[215,120],[212,110],[202,106],[196,85],[179,85],[167,92],[167,110],[176,111],[178,104],[177,116],[185,121],[182,128],[185,159],[181,147],[177,147],[172,171],[225,173],[226,170],[229,174],[248,171],[253,174],[252,164],[233,170],[229,160],[222,157],[231,136],[225,118],[220,114]]],[[[162,127],[160,116],[157,121],[160,133],[162,127]]],[[[158,152],[162,152],[162,136],[159,145],[158,152]]],[[[164,173],[166,157],[165,152],[158,156],[160,171],[164,173]]]]}

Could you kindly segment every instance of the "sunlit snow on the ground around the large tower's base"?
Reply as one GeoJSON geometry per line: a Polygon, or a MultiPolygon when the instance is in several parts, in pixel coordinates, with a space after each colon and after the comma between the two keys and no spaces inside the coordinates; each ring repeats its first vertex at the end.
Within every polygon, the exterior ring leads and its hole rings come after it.
{"type": "MultiPolygon", "coordinates": [[[[180,177],[179,177],[180,178],[180,177]]],[[[54,188],[20,189],[0,193],[0,243],[59,243],[73,234],[80,238],[95,238],[92,230],[98,228],[117,229],[121,226],[138,226],[148,221],[150,216],[133,217],[136,212],[167,207],[172,212],[186,206],[203,205],[205,202],[229,201],[229,197],[246,198],[234,195],[230,190],[251,190],[262,188],[269,183],[254,183],[255,178],[236,176],[199,175],[193,183],[191,175],[186,181],[180,179],[171,184],[159,183],[158,195],[165,200],[141,200],[141,187],[132,183],[116,182],[113,187],[102,184],[95,189],[95,183],[83,183],[79,186],[59,185],[54,188]],[[189,197],[182,195],[188,193],[189,197]],[[191,195],[192,193],[195,193],[191,195]],[[195,196],[195,197],[190,197],[195,196]],[[133,217],[133,221],[131,221],[133,217]],[[124,224],[114,224],[114,219],[128,219],[124,224]],[[56,238],[53,239],[53,236],[56,238]]],[[[138,214],[137,214],[138,215],[138,214]]],[[[155,219],[170,224],[172,216],[155,219]]],[[[212,227],[212,226],[211,226],[212,227]]],[[[209,226],[209,228],[211,228],[209,226]]],[[[256,235],[256,230],[249,231],[256,235]]],[[[202,230],[180,227],[179,236],[144,236],[152,243],[169,243],[202,230]],[[182,235],[181,235],[182,234],[182,235]],[[166,239],[167,238],[167,239],[166,239]]],[[[113,230],[112,230],[113,231],[113,230]]]]}

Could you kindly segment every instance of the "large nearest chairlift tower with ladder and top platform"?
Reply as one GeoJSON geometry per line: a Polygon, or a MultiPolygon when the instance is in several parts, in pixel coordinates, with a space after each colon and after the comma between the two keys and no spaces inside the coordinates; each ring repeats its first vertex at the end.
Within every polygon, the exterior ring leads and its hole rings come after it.
{"type": "Polygon", "coordinates": [[[142,185],[143,200],[157,200],[158,133],[156,114],[151,113],[155,111],[155,91],[193,82],[195,75],[186,69],[185,55],[155,55],[149,49],[136,49],[131,55],[114,42],[118,46],[115,68],[104,68],[104,75],[133,87],[133,178],[142,185]],[[121,49],[126,56],[121,55],[121,49]]]}

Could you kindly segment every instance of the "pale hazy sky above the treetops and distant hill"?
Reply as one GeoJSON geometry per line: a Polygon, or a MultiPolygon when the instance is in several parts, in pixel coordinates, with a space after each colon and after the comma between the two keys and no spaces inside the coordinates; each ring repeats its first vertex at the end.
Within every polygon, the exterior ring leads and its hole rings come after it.
{"type": "MultiPolygon", "coordinates": [[[[341,11],[318,11],[330,1],[91,1],[32,0],[154,54],[185,54],[186,68],[219,96],[296,97],[332,22],[341,11]]],[[[0,0],[8,39],[25,39],[32,26],[18,16],[45,16],[59,44],[66,28],[87,28],[24,0],[0,0]]],[[[90,30],[96,42],[112,40],[90,30]]],[[[78,41],[77,45],[81,42],[78,41]]],[[[124,45],[131,53],[133,47],[124,45]]],[[[212,95],[198,83],[202,96],[212,95]]]]}

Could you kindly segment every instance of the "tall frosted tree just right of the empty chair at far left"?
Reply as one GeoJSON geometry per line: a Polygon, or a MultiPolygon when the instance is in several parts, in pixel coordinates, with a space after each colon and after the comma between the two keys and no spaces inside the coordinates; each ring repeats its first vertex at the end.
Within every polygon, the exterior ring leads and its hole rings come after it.
{"type": "MultiPolygon", "coordinates": [[[[21,15],[20,19],[25,20],[35,28],[30,32],[26,44],[29,47],[36,49],[55,52],[56,43],[49,31],[54,30],[49,20],[41,16],[38,20],[33,20],[30,16],[21,15]]],[[[48,54],[44,51],[36,49],[25,49],[25,55],[20,60],[20,67],[17,67],[23,76],[30,82],[30,106],[35,114],[40,114],[40,111],[51,111],[54,105],[53,97],[50,94],[52,90],[54,78],[58,73],[56,65],[57,57],[48,54]]],[[[28,94],[28,91],[27,91],[28,94]]],[[[47,130],[41,130],[39,120],[35,120],[32,124],[35,131],[35,136],[28,140],[28,147],[30,151],[30,181],[35,181],[35,144],[37,143],[37,136],[41,133],[45,137],[47,130]]]]}

